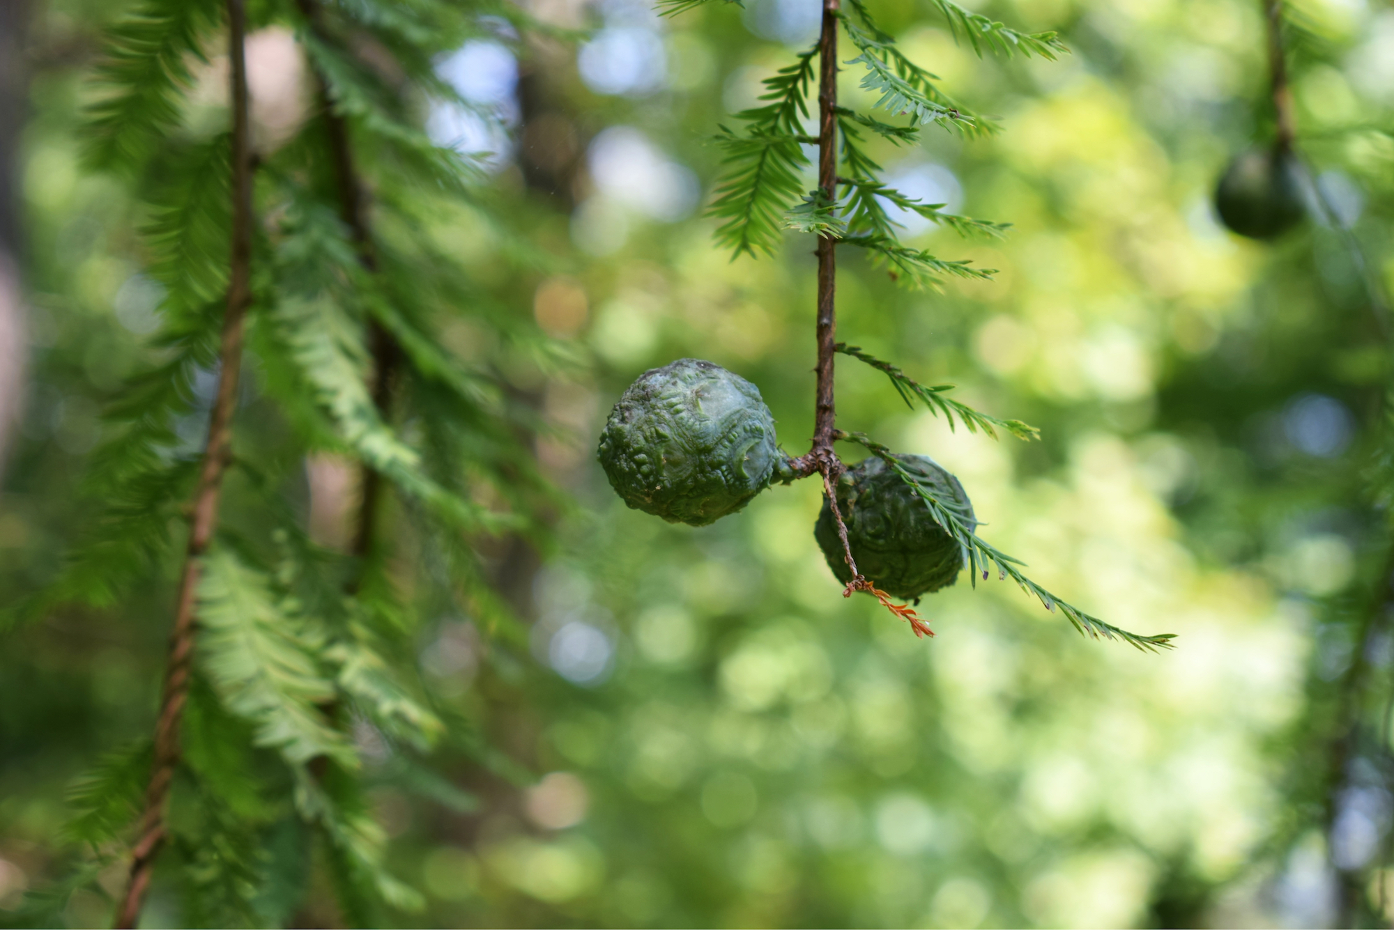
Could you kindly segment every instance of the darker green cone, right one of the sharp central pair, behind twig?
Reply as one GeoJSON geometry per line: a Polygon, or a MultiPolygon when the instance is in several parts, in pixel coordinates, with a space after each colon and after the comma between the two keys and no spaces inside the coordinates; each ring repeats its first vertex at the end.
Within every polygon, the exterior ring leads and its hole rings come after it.
{"type": "MultiPolygon", "coordinates": [[[[921,476],[941,496],[955,501],[965,526],[977,526],[973,504],[956,478],[924,455],[895,458],[912,475],[921,476]]],[[[924,501],[878,457],[873,455],[842,473],[838,510],[848,525],[848,542],[857,571],[888,594],[919,597],[958,581],[963,549],[934,522],[924,501]]],[[[813,535],[838,581],[843,585],[852,581],[827,500],[813,535]]]]}

